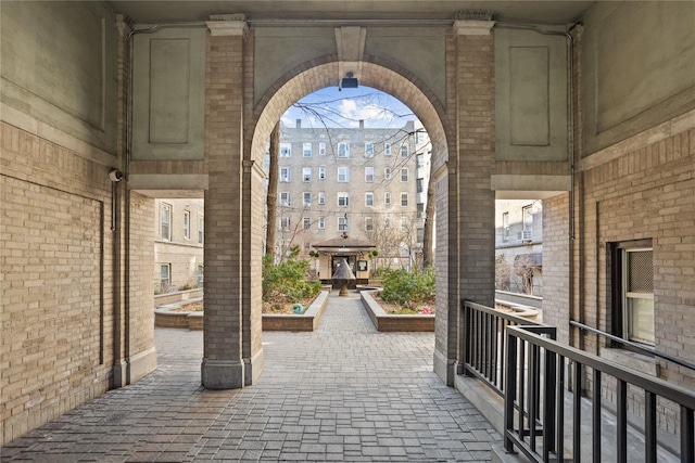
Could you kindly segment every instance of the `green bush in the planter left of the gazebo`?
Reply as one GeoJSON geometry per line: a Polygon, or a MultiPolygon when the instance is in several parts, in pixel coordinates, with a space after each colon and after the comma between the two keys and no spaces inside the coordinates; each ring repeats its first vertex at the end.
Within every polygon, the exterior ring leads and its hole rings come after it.
{"type": "Polygon", "coordinates": [[[306,280],[309,263],[293,253],[281,263],[275,265],[267,255],[263,262],[263,300],[298,303],[316,297],[321,291],[319,281],[306,280]]]}

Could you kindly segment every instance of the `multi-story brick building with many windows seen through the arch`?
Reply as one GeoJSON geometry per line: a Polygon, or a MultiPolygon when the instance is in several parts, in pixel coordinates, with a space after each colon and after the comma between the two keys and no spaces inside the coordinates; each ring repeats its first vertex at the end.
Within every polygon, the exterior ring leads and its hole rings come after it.
{"type": "MultiPolygon", "coordinates": [[[[301,119],[282,126],[278,254],[299,245],[307,257],[314,245],[348,234],[376,247],[371,266],[409,268],[425,223],[424,139],[414,121],[400,128],[365,128],[364,120],[358,128],[303,127],[301,119]]],[[[355,268],[354,259],[350,263],[355,268]]]]}

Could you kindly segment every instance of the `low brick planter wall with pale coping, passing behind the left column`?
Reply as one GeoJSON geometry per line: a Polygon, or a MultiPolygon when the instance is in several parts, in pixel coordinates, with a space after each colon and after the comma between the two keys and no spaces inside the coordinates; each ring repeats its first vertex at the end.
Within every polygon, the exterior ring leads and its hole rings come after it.
{"type": "MultiPolygon", "coordinates": [[[[296,313],[264,313],[264,331],[314,331],[318,325],[326,303],[328,301],[328,291],[321,291],[316,299],[302,314],[296,313]]],[[[202,297],[188,299],[175,304],[167,304],[154,309],[154,325],[160,327],[187,327],[192,331],[203,329],[203,311],[199,312],[177,312],[173,309],[203,300],[202,297]]]]}

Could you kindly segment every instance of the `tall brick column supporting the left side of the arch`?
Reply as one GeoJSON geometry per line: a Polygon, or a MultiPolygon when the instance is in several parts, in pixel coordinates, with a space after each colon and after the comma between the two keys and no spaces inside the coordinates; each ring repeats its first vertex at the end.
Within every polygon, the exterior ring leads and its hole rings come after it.
{"type": "Polygon", "coordinates": [[[242,360],[243,37],[247,24],[207,23],[205,76],[205,318],[202,383],[244,386],[242,360]]]}

